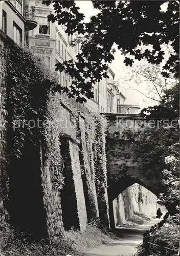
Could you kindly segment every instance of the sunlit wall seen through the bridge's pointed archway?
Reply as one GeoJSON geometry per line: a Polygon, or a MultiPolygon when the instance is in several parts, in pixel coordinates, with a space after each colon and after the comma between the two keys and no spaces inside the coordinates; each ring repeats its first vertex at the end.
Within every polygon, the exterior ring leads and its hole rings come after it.
{"type": "Polygon", "coordinates": [[[125,224],[135,213],[155,216],[156,200],[156,196],[145,187],[137,183],[129,186],[113,201],[116,226],[125,224]]]}

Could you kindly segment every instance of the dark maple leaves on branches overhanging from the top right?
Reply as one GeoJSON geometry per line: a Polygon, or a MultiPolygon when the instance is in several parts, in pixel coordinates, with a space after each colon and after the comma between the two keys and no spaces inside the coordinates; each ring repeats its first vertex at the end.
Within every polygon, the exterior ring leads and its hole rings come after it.
{"type": "Polygon", "coordinates": [[[73,78],[70,88],[63,90],[70,97],[75,95],[77,101],[86,101],[83,95],[92,97],[92,84],[107,77],[107,63],[114,59],[114,43],[125,54],[126,66],[132,66],[133,58],[161,63],[164,60],[161,45],[169,43],[173,52],[162,74],[178,76],[178,3],[175,1],[166,3],[166,11],[161,9],[165,2],[92,1],[99,13],[89,23],[83,22],[84,15],[75,1],[42,2],[53,4],[54,13],[48,16],[49,21],[64,24],[69,35],[75,32],[83,35],[82,52],[76,56],[77,60],[56,65],[56,70],[64,70],[73,78]]]}

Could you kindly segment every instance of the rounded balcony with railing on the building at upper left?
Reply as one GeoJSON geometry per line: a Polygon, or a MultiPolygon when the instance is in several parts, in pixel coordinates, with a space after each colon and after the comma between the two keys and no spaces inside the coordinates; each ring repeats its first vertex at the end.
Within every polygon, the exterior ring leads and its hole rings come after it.
{"type": "Polygon", "coordinates": [[[35,10],[35,6],[25,5],[24,17],[26,19],[26,31],[32,30],[37,27],[35,10]]]}

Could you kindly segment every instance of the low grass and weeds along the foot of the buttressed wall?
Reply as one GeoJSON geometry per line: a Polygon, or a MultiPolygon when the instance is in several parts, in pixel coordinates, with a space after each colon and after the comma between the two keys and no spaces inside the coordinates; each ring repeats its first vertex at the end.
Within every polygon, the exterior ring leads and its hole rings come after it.
{"type": "Polygon", "coordinates": [[[89,224],[84,232],[65,231],[63,238],[60,237],[56,243],[47,245],[43,242],[28,242],[24,234],[17,236],[13,228],[7,225],[3,231],[0,230],[0,256],[81,256],[88,248],[108,243],[113,239],[118,237],[104,228],[89,224]]]}

